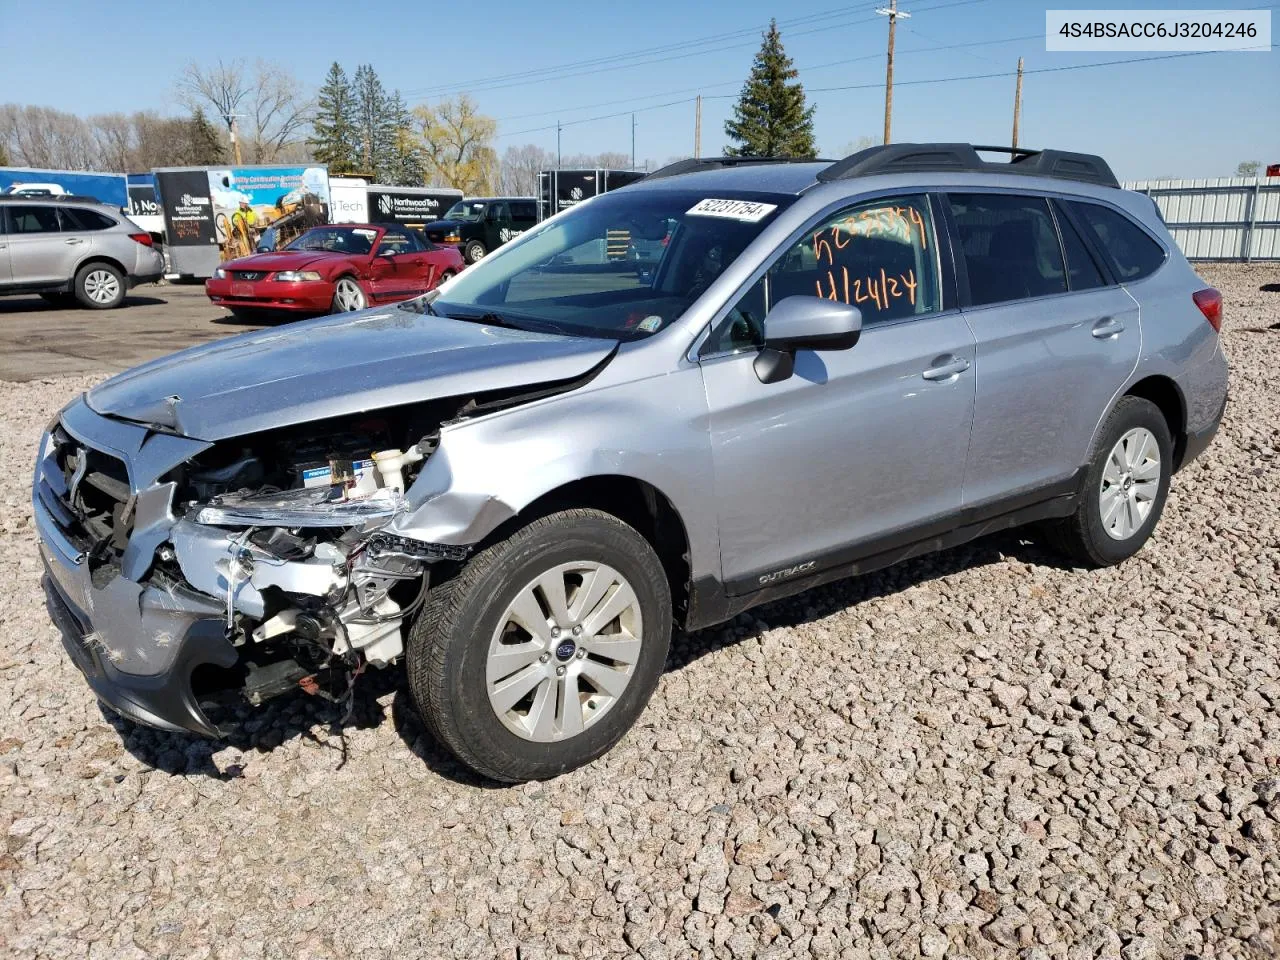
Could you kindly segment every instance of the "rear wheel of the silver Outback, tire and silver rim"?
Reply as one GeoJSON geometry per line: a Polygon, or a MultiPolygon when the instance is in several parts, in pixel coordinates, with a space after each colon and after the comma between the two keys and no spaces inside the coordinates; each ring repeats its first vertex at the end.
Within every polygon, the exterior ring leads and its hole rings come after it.
{"type": "Polygon", "coordinates": [[[1048,539],[1087,567],[1128,559],[1160,521],[1172,461],[1165,415],[1142,397],[1121,397],[1098,431],[1075,513],[1046,527],[1048,539]]]}

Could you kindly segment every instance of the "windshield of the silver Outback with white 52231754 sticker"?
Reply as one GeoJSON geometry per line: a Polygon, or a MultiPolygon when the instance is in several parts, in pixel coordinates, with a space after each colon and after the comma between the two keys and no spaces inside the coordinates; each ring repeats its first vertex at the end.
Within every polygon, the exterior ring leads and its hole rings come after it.
{"type": "Polygon", "coordinates": [[[637,339],[678,319],[794,196],[618,191],[456,276],[436,314],[637,339]]]}

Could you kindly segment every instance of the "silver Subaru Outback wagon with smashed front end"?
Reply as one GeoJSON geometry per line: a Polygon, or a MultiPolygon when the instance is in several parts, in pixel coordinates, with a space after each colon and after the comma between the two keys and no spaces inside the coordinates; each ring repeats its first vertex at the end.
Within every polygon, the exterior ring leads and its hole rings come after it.
{"type": "Polygon", "coordinates": [[[403,662],[465,764],[556,776],[635,722],[673,626],[1023,524],[1130,557],[1222,416],[1221,308],[1096,156],[685,161],[416,301],[72,402],[49,609],[145,724],[403,662]]]}

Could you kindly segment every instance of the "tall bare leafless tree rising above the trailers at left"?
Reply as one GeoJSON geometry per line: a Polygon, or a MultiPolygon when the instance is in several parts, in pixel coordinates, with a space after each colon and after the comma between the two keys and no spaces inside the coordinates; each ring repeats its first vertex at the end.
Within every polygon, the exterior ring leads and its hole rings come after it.
{"type": "Polygon", "coordinates": [[[189,63],[178,79],[178,99],[189,109],[212,108],[229,132],[239,134],[246,163],[271,163],[302,138],[311,104],[297,78],[257,60],[189,63]]]}

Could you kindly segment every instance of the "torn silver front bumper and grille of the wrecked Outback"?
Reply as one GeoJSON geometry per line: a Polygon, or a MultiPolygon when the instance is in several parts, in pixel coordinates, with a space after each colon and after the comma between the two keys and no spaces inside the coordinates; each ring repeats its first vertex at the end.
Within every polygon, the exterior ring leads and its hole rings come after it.
{"type": "Polygon", "coordinates": [[[179,518],[174,484],[161,477],[207,445],[104,417],[77,401],[41,442],[32,507],[50,617],[97,698],[146,726],[218,737],[227,731],[202,712],[193,675],[205,666],[252,675],[270,641],[296,627],[288,598],[314,600],[316,609],[329,604],[337,622],[325,643],[335,669],[356,658],[387,666],[403,653],[408,613],[389,585],[421,579],[425,593],[426,564],[465,550],[433,553],[429,544],[381,534],[346,556],[325,543],[306,558],[282,559],[251,543],[248,529],[179,518]],[[74,471],[67,449],[58,453],[63,444],[76,449],[74,471]],[[77,489],[88,485],[100,503],[106,494],[118,500],[108,497],[99,513],[114,516],[106,535],[73,507],[83,503],[77,489]],[[109,541],[111,549],[100,549],[109,541]]]}

